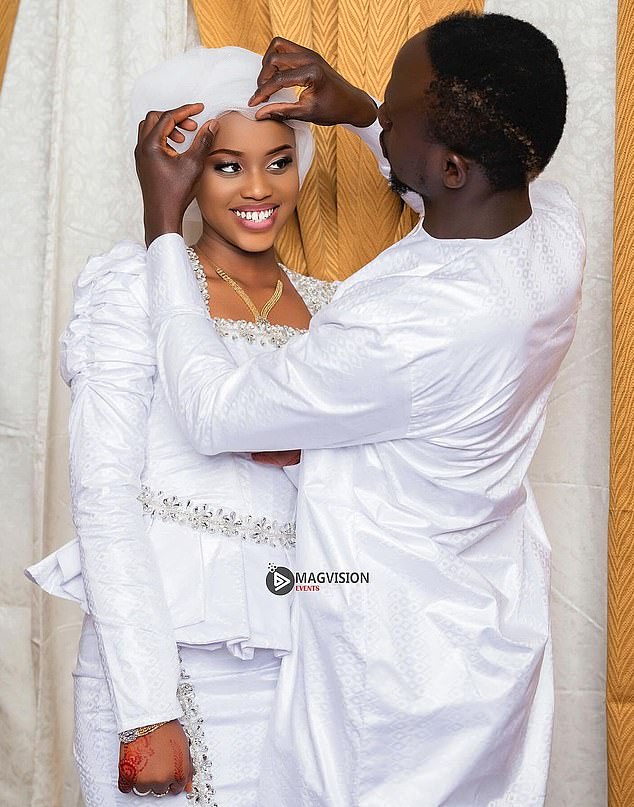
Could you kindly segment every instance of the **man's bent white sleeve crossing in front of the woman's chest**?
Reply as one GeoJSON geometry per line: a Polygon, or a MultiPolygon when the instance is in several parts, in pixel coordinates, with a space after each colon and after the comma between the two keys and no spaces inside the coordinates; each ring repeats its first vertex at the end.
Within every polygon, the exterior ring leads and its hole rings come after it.
{"type": "Polygon", "coordinates": [[[308,333],[236,367],[180,236],[152,243],[148,284],[161,378],[198,451],[331,448],[407,433],[409,362],[344,297],[323,308],[308,333]]]}

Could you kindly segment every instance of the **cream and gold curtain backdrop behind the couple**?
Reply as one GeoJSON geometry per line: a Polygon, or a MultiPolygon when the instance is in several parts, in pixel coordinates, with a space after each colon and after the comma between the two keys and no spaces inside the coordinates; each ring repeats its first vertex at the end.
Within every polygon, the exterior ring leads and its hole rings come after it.
{"type": "MultiPolygon", "coordinates": [[[[549,173],[581,201],[589,234],[578,335],[555,389],[532,470],[553,540],[557,716],[548,807],[606,804],[604,578],[616,5],[617,0],[487,0],[485,5],[488,11],[529,19],[562,50],[571,84],[570,116],[549,173]]],[[[6,32],[17,7],[17,0],[0,0],[0,81],[6,32]]],[[[457,7],[480,4],[196,2],[208,44],[231,42],[262,51],[270,36],[282,34],[321,50],[351,80],[379,97],[400,43],[457,7]]],[[[620,93],[625,99],[632,85],[632,20],[627,11],[621,9],[620,37],[620,93]]],[[[188,32],[187,20],[185,0],[116,6],[100,0],[23,0],[19,7],[0,96],[0,296],[10,301],[0,317],[5,378],[0,395],[3,804],[78,807],[81,802],[70,752],[70,670],[80,614],[40,597],[22,579],[21,570],[68,540],[72,530],[66,482],[68,392],[56,369],[57,338],[68,317],[72,281],[87,255],[122,237],[141,236],[122,99],[143,70],[195,44],[191,9],[188,32]]],[[[631,110],[631,97],[627,103],[631,110]]],[[[629,137],[626,109],[623,102],[622,144],[629,137]]],[[[353,138],[335,130],[321,130],[318,138],[318,155],[326,168],[313,172],[280,250],[302,271],[344,277],[405,232],[411,217],[376,178],[373,161],[353,138]],[[378,211],[382,221],[377,228],[378,211]]],[[[634,642],[628,608],[634,552],[629,546],[627,258],[632,247],[624,233],[634,211],[627,207],[632,187],[628,148],[621,145],[619,155],[610,769],[611,807],[631,807],[634,766],[628,748],[634,726],[628,686],[634,642]]]]}

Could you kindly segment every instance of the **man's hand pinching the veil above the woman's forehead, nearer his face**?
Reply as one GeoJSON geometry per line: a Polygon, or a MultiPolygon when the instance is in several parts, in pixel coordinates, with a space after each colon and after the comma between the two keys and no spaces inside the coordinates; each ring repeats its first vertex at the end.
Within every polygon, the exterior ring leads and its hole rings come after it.
{"type": "Polygon", "coordinates": [[[314,50],[277,36],[264,54],[258,89],[249,105],[263,104],[283,87],[304,89],[297,103],[267,104],[258,109],[258,120],[291,118],[321,126],[351,123],[360,127],[376,120],[376,104],[366,92],[346,81],[314,50]]]}

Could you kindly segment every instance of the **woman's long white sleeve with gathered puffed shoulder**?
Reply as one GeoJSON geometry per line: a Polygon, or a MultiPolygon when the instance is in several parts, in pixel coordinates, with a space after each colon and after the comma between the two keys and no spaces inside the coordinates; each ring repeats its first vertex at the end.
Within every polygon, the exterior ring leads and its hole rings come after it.
{"type": "Polygon", "coordinates": [[[73,519],[119,731],[181,714],[177,648],[137,498],[156,366],[146,284],[139,244],[92,258],[61,340],[73,519]]]}

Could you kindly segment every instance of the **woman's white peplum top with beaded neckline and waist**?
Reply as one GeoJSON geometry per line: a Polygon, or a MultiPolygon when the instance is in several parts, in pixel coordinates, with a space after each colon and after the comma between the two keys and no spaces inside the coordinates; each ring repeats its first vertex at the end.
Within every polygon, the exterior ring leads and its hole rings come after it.
{"type": "MultiPolygon", "coordinates": [[[[334,291],[288,276],[311,313],[334,291]]],[[[265,581],[268,563],[293,566],[296,489],[279,468],[187,441],[156,377],[143,246],[92,258],[75,292],[61,361],[78,537],[27,574],[92,615],[123,731],[180,716],[177,642],[290,650],[290,603],[265,581]]],[[[299,333],[207,319],[236,364],[299,333]]]]}

